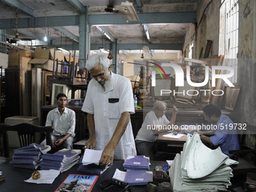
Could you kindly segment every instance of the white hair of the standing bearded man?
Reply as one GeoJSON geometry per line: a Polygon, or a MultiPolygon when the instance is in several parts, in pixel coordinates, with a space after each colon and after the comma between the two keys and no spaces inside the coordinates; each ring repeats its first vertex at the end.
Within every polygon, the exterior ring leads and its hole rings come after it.
{"type": "Polygon", "coordinates": [[[85,68],[90,71],[91,69],[98,66],[99,63],[102,64],[102,67],[104,70],[107,70],[108,67],[110,66],[108,57],[105,56],[105,54],[101,52],[101,53],[96,53],[96,54],[90,56],[89,59],[87,59],[85,68]]]}

